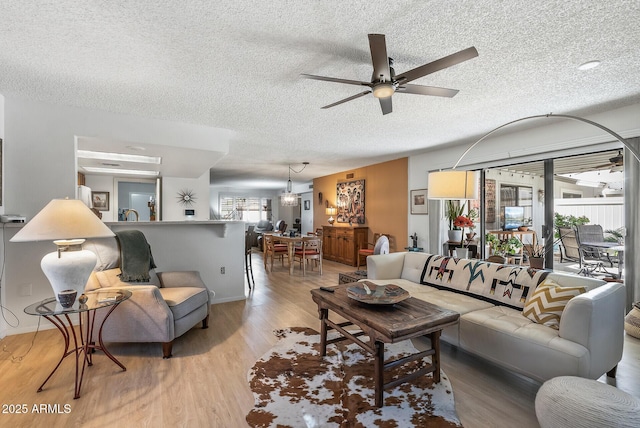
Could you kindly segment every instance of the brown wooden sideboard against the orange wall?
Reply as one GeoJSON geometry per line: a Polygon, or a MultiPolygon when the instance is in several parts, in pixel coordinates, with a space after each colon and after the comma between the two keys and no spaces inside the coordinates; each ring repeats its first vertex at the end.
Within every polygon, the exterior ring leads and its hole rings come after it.
{"type": "Polygon", "coordinates": [[[364,248],[368,239],[368,227],[323,226],[323,257],[334,262],[356,266],[358,249],[360,247],[364,248]]]}

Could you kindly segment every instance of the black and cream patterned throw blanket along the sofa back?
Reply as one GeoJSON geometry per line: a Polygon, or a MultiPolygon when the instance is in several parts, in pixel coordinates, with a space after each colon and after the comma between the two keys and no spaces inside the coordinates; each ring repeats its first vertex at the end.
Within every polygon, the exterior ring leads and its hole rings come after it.
{"type": "Polygon", "coordinates": [[[522,310],[527,297],[548,273],[529,266],[431,255],[425,262],[420,283],[522,310]]]}

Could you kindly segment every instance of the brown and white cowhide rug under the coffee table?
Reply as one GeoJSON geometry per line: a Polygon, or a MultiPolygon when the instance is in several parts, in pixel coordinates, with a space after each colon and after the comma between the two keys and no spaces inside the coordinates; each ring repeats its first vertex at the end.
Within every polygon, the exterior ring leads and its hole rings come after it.
{"type": "MultiPolygon", "coordinates": [[[[375,407],[373,359],[358,345],[339,342],[320,357],[320,335],[312,329],[275,332],[276,345],[249,370],[255,407],[251,427],[460,427],[447,376],[431,375],[384,391],[375,407]]],[[[385,346],[385,360],[415,353],[411,341],[385,346]]],[[[385,382],[426,362],[414,361],[385,372],[385,382]],[[395,376],[394,376],[395,377],[395,376]]]]}

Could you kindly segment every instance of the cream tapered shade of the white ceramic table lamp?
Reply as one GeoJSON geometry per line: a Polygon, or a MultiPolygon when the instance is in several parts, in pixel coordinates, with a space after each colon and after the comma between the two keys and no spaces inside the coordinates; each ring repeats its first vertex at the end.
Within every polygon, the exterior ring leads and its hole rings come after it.
{"type": "Polygon", "coordinates": [[[54,199],[11,238],[11,242],[106,238],[114,233],[78,199],[54,199]]]}

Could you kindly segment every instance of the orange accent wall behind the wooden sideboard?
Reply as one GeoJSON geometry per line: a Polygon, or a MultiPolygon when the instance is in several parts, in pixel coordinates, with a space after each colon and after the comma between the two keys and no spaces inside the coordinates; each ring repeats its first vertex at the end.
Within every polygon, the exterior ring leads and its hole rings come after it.
{"type": "MultiPolygon", "coordinates": [[[[369,242],[374,233],[391,235],[391,251],[404,251],[408,246],[408,158],[327,175],[313,180],[313,227],[328,226],[325,214],[326,202],[336,206],[336,186],[343,181],[365,180],[365,224],[369,228],[369,242]],[[353,178],[347,178],[353,174],[353,178]],[[319,201],[322,193],[322,203],[319,201]]],[[[334,216],[335,218],[336,216],[334,216]]],[[[349,223],[333,224],[333,227],[349,227],[349,223]]]]}

